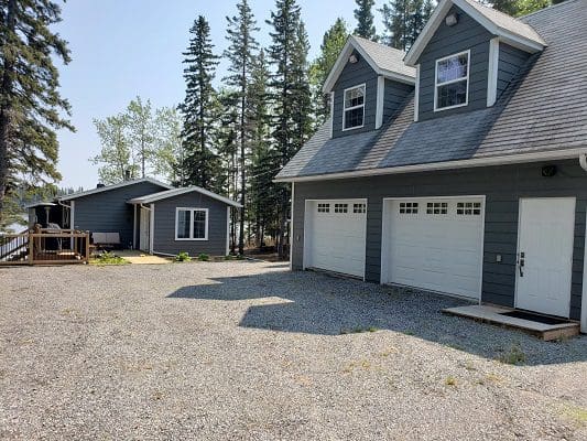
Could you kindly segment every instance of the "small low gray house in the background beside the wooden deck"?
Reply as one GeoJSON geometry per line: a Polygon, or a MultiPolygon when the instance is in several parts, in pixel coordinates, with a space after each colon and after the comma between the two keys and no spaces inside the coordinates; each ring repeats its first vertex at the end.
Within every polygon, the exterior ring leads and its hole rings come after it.
{"type": "Polygon", "coordinates": [[[93,237],[116,237],[113,245],[122,249],[170,256],[182,251],[225,256],[230,207],[240,204],[197,186],[174,189],[144,178],[99,184],[34,204],[29,208],[29,224],[87,230],[93,237]]]}

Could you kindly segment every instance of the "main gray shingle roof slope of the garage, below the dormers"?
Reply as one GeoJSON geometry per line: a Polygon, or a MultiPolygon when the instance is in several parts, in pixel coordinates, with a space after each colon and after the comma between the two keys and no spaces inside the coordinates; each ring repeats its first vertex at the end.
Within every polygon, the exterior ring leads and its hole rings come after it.
{"type": "Polygon", "coordinates": [[[325,123],[278,179],[587,147],[587,0],[520,19],[548,46],[494,106],[413,121],[413,94],[380,130],[329,139],[325,123]]]}

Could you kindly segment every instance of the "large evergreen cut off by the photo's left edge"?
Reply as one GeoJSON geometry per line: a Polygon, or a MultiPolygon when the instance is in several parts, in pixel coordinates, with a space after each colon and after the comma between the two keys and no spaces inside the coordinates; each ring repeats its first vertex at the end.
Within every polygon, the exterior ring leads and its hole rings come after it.
{"type": "Polygon", "coordinates": [[[67,43],[51,31],[61,7],[50,0],[4,0],[0,7],[0,228],[4,201],[18,186],[61,178],[55,130],[74,130],[62,116],[54,60],[69,63],[67,43]]]}

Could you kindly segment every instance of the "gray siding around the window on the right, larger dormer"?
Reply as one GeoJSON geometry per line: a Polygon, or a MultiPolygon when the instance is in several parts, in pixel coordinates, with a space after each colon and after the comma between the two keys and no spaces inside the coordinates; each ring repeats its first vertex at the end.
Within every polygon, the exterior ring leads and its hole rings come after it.
{"type": "Polygon", "coordinates": [[[418,120],[421,121],[487,107],[489,41],[493,35],[459,8],[453,7],[448,14],[450,13],[458,14],[458,23],[447,26],[443,21],[417,61],[420,63],[418,120]],[[435,112],[436,60],[467,50],[470,50],[468,105],[435,112]]]}

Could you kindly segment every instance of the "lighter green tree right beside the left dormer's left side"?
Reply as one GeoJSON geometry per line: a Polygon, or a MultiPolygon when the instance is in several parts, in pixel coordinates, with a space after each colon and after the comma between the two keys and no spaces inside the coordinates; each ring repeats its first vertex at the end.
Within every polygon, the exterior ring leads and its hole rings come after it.
{"type": "Polygon", "coordinates": [[[343,51],[348,37],[347,24],[345,20],[337,19],[324,34],[320,45],[320,54],[309,66],[309,84],[312,89],[312,100],[314,103],[314,117],[316,126],[319,127],[330,112],[330,101],[328,96],[324,96],[322,87],[326,82],[330,69],[336,63],[336,58],[343,51]]]}

